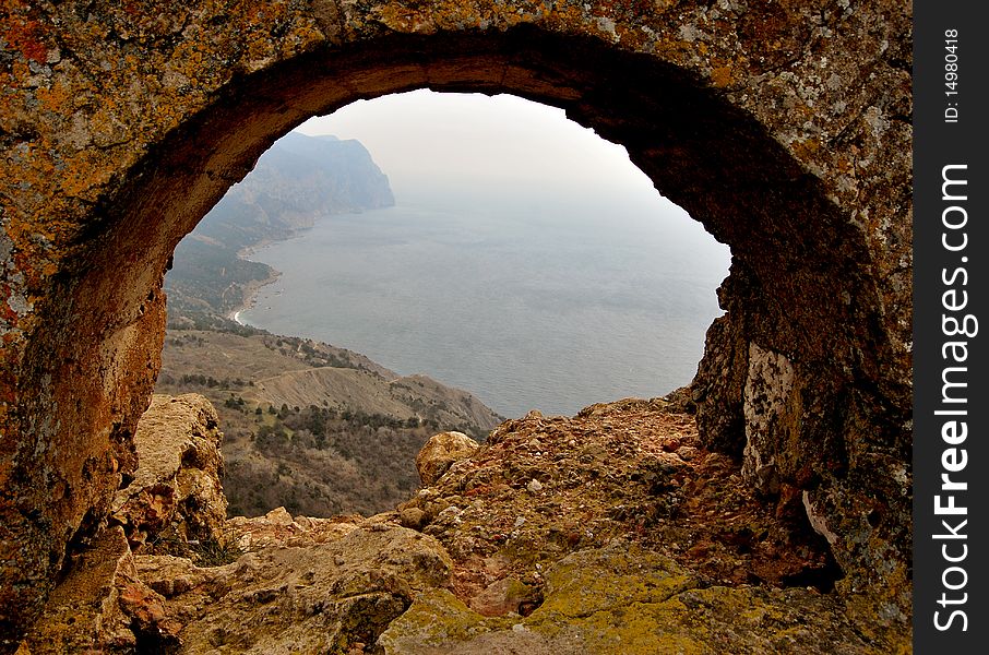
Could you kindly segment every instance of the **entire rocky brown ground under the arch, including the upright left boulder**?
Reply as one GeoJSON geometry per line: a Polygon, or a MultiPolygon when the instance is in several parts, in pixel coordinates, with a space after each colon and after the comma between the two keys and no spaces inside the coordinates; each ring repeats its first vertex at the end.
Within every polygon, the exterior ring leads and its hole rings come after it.
{"type": "Polygon", "coordinates": [[[215,413],[156,396],[138,476],[21,655],[893,653],[826,541],[768,511],[668,400],[438,434],[370,519],[224,522],[215,413]]]}

